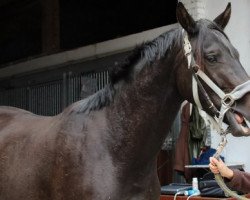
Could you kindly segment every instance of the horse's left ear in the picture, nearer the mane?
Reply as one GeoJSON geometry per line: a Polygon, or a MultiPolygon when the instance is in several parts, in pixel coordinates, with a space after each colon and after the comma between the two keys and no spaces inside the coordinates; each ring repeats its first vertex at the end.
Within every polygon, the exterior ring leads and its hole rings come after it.
{"type": "Polygon", "coordinates": [[[182,28],[184,28],[189,34],[196,32],[196,23],[181,2],[177,5],[176,17],[182,28]]]}

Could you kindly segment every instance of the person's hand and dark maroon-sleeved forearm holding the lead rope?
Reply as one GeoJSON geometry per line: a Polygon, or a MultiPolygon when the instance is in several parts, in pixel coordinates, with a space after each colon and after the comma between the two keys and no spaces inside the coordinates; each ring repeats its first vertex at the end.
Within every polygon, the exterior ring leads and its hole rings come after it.
{"type": "Polygon", "coordinates": [[[209,168],[214,174],[220,173],[227,185],[233,190],[250,192],[250,173],[237,169],[230,169],[220,159],[210,157],[209,168]]]}

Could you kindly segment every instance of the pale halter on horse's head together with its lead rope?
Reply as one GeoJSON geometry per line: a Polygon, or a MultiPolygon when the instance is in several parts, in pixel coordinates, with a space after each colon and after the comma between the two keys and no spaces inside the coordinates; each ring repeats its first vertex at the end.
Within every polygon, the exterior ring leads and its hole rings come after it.
{"type": "MultiPolygon", "coordinates": [[[[195,104],[198,108],[202,109],[202,105],[200,102],[198,88],[201,91],[205,99],[205,103],[208,105],[209,109],[213,113],[213,117],[208,115],[210,122],[213,124],[213,127],[216,131],[221,135],[221,142],[216,149],[216,153],[214,157],[219,159],[220,154],[227,143],[226,135],[229,133],[228,129],[223,128],[223,119],[227,111],[229,111],[232,105],[236,100],[242,98],[246,93],[250,92],[250,80],[236,86],[230,93],[224,93],[203,71],[201,71],[200,67],[195,63],[193,54],[192,54],[192,46],[188,39],[188,34],[183,30],[183,48],[184,54],[187,58],[188,69],[192,72],[192,93],[195,104]],[[218,110],[213,102],[211,101],[209,95],[204,89],[203,85],[200,82],[202,79],[221,99],[221,107],[218,110]]],[[[247,120],[245,119],[246,123],[247,120]]],[[[249,127],[250,128],[250,127],[249,127]]],[[[221,175],[215,174],[215,180],[221,189],[225,192],[226,195],[235,197],[237,199],[246,200],[246,197],[240,196],[237,193],[231,191],[226,184],[224,183],[221,175]]]]}

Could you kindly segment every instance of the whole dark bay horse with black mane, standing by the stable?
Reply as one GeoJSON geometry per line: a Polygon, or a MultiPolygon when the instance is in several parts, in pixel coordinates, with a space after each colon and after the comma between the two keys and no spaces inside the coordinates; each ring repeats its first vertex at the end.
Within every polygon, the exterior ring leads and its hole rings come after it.
{"type": "MultiPolygon", "coordinates": [[[[230,13],[228,5],[214,21],[196,22],[179,3],[182,27],[136,48],[109,85],[57,116],[1,107],[0,200],[158,200],[157,154],[183,100],[194,103],[182,29],[197,65],[224,92],[249,80],[223,32],[230,13]]],[[[218,95],[201,83],[219,108],[218,95]]],[[[247,119],[249,93],[225,122],[242,136],[250,134],[247,119]]]]}

